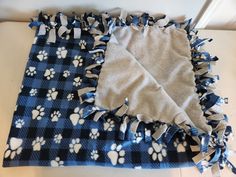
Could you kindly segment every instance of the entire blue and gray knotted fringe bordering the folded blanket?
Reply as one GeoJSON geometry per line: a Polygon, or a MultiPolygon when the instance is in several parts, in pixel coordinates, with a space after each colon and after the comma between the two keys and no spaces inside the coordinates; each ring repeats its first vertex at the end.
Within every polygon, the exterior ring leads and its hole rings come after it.
{"type": "Polygon", "coordinates": [[[73,36],[74,39],[81,37],[81,31],[89,31],[93,34],[94,47],[89,53],[94,54],[94,63],[85,69],[85,76],[89,80],[89,87],[78,90],[80,102],[85,104],[83,118],[93,115],[94,121],[113,118],[120,125],[119,139],[126,139],[127,130],[133,134],[134,138],[137,131],[142,132],[146,142],[154,139],[155,141],[170,142],[173,136],[182,130],[197,142],[197,146],[191,146],[193,152],[199,152],[193,157],[197,168],[203,172],[207,167],[212,167],[213,175],[219,175],[219,169],[227,165],[232,172],[236,173],[236,168],[228,161],[227,141],[232,132],[232,128],[227,124],[228,118],[223,114],[220,105],[227,103],[227,98],[221,98],[214,93],[214,83],[219,80],[219,76],[211,74],[211,66],[217,57],[211,56],[201,47],[211,39],[200,39],[197,32],[191,29],[191,20],[178,23],[169,20],[166,16],[151,17],[147,13],[141,16],[127,15],[121,11],[119,17],[111,17],[104,13],[93,15],[92,13],[83,14],[81,18],[77,16],[67,17],[62,13],[54,16],[39,14],[37,20],[30,23],[30,27],[38,27],[37,35],[47,35],[47,42],[55,43],[57,37],[67,38],[73,36]],[[192,65],[195,72],[196,89],[200,99],[200,105],[208,124],[212,127],[211,134],[199,134],[195,127],[186,125],[184,121],[176,120],[175,125],[168,125],[162,122],[144,122],[142,115],[130,116],[128,110],[128,100],[114,110],[107,110],[94,105],[95,92],[102,64],[104,63],[106,43],[110,39],[110,34],[116,26],[132,26],[134,29],[139,27],[145,32],[145,26],[158,25],[160,28],[169,26],[185,29],[190,41],[192,65]]]}

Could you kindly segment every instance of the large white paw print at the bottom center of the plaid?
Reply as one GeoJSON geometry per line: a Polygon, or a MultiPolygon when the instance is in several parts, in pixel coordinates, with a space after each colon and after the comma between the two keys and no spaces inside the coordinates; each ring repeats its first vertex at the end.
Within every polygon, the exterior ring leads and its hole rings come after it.
{"type": "Polygon", "coordinates": [[[121,150],[122,145],[112,144],[111,151],[107,153],[109,159],[111,160],[112,165],[116,165],[117,163],[123,164],[125,162],[125,151],[121,150]]]}

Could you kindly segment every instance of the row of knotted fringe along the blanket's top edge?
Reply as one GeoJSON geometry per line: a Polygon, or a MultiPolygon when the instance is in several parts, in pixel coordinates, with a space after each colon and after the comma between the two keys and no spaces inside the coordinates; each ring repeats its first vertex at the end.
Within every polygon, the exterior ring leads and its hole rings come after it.
{"type": "MultiPolygon", "coordinates": [[[[153,26],[158,25],[160,28],[175,26],[180,28],[180,23],[170,20],[167,16],[151,17],[147,13],[141,16],[127,15],[121,11],[119,17],[112,17],[107,13],[95,15],[93,13],[84,13],[80,17],[73,13],[73,17],[58,12],[56,15],[48,15],[43,12],[38,17],[31,19],[29,27],[37,27],[38,36],[47,36],[48,43],[55,43],[57,37],[63,39],[80,39],[82,31],[88,31],[95,35],[95,46],[102,41],[96,39],[96,35],[108,35],[113,32],[116,26],[153,26]],[[98,43],[97,43],[98,42],[98,43]]],[[[103,43],[104,44],[104,43],[103,43]]]]}

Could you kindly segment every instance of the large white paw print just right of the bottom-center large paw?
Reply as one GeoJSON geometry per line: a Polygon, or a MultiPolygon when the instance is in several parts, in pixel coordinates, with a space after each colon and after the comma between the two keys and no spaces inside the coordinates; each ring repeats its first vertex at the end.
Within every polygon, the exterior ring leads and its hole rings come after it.
{"type": "Polygon", "coordinates": [[[152,147],[148,148],[148,154],[152,156],[152,160],[159,162],[163,160],[163,157],[166,157],[166,148],[162,144],[157,144],[154,141],[152,142],[152,147]]]}

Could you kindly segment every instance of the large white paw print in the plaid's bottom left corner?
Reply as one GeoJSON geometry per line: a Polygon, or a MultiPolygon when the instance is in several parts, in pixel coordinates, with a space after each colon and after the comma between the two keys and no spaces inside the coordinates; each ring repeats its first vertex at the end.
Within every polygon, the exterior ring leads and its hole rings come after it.
{"type": "Polygon", "coordinates": [[[12,137],[9,144],[7,144],[4,158],[10,157],[10,159],[13,159],[16,155],[19,155],[22,151],[22,143],[22,139],[12,137]]]}

